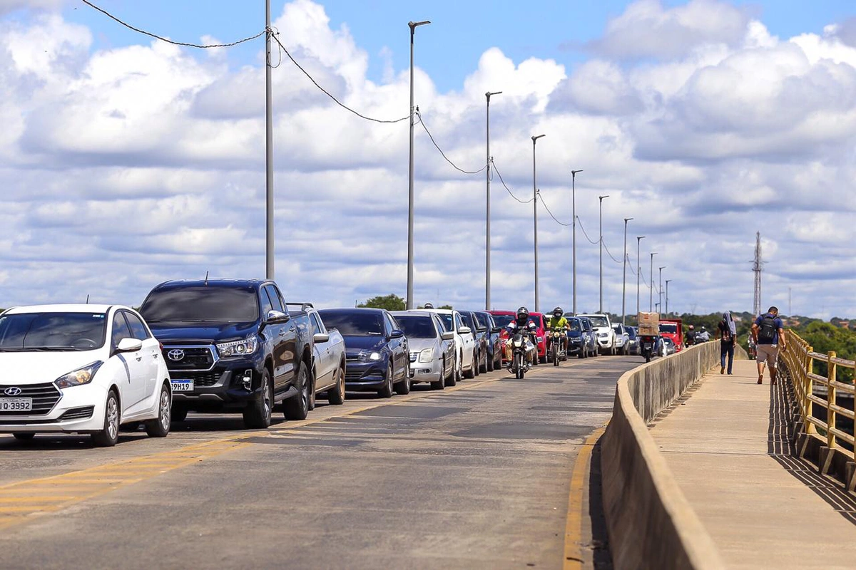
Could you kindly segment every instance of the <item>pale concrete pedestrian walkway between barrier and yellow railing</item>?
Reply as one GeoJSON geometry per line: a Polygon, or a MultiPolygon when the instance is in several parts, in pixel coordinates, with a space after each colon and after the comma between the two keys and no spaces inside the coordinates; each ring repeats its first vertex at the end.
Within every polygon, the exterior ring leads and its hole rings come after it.
{"type": "Polygon", "coordinates": [[[783,383],[757,380],[717,366],[651,436],[728,567],[856,567],[856,500],[790,455],[783,383]]]}

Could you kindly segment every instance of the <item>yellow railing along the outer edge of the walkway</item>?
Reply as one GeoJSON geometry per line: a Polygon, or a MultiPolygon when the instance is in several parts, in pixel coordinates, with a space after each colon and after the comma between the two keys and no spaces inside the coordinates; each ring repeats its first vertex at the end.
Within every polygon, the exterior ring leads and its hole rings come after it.
{"type": "Polygon", "coordinates": [[[856,389],[854,389],[853,384],[840,382],[836,379],[838,369],[841,367],[849,368],[856,373],[856,362],[838,358],[835,356],[835,350],[830,350],[825,355],[814,352],[811,345],[794,331],[786,331],[785,335],[787,344],[779,357],[784,360],[785,366],[788,367],[788,373],[794,385],[794,396],[800,406],[805,433],[823,441],[823,435],[818,433],[817,429],[823,430],[826,445],[830,450],[844,451],[842,444],[846,443],[853,450],[852,452],[848,451],[849,455],[856,461],[856,438],[853,438],[852,433],[843,432],[836,427],[836,420],[839,415],[850,420],[856,420],[853,410],[839,406],[836,400],[840,393],[856,396],[854,393],[856,389]],[[819,363],[826,364],[826,376],[816,372],[819,363]],[[826,398],[814,394],[815,385],[826,387],[826,398]],[[823,407],[826,410],[826,417],[823,419],[815,417],[812,404],[823,407]]]}

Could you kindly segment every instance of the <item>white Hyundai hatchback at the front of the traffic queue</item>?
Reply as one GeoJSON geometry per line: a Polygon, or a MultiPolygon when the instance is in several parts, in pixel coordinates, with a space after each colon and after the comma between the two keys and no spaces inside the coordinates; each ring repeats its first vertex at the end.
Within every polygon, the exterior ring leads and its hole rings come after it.
{"type": "Polygon", "coordinates": [[[115,445],[122,424],[169,433],[172,392],[160,343],[120,305],[39,305],[0,314],[0,433],[89,433],[115,445]]]}

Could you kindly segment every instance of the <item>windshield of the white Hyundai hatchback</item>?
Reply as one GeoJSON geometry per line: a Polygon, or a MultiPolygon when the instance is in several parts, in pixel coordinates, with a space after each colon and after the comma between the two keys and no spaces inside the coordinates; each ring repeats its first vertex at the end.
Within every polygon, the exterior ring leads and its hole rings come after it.
{"type": "Polygon", "coordinates": [[[104,345],[104,313],[22,313],[0,317],[0,351],[92,350],[104,345]]]}

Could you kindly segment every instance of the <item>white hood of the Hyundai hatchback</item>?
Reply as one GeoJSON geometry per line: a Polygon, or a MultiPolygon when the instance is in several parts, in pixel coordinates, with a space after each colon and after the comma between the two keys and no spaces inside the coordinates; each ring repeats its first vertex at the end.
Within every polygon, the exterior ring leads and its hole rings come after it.
{"type": "Polygon", "coordinates": [[[0,352],[3,385],[24,386],[53,382],[94,361],[104,360],[101,350],[82,352],[0,352]]]}

